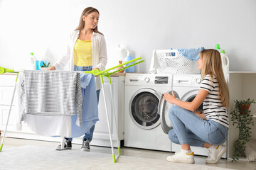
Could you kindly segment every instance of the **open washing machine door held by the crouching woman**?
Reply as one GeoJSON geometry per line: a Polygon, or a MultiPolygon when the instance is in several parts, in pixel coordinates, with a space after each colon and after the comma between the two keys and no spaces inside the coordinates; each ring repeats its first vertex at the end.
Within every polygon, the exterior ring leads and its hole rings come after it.
{"type": "MultiPolygon", "coordinates": [[[[169,94],[171,94],[171,92],[172,91],[168,91],[169,94]]],[[[176,98],[178,98],[178,100],[180,99],[176,91],[174,91],[174,95],[176,96],[176,98]]],[[[173,128],[168,115],[171,106],[174,106],[174,103],[167,102],[166,100],[164,100],[164,97],[161,96],[159,102],[159,115],[161,120],[161,128],[166,134],[168,134],[168,132],[173,128]]]]}

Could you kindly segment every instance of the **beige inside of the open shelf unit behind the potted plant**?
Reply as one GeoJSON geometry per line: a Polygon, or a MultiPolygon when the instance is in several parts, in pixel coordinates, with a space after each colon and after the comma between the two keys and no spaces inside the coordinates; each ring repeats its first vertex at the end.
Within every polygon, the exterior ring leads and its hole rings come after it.
{"type": "MultiPolygon", "coordinates": [[[[238,129],[231,122],[230,113],[235,108],[235,100],[246,100],[247,98],[256,100],[256,72],[230,72],[229,74],[229,92],[230,108],[228,108],[230,128],[228,132],[228,158],[233,157],[234,143],[238,139],[238,129]]],[[[250,106],[251,113],[254,115],[256,125],[256,104],[250,106]]],[[[256,139],[256,128],[252,126],[252,138],[256,139]]]]}

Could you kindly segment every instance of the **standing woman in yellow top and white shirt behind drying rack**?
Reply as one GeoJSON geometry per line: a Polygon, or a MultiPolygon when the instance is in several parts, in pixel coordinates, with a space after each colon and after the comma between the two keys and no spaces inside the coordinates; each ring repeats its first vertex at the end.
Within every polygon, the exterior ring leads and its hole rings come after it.
{"type": "MultiPolygon", "coordinates": [[[[99,17],[100,13],[96,8],[87,7],[82,11],[78,28],[70,34],[70,42],[68,43],[65,55],[48,70],[62,69],[67,64],[70,71],[105,69],[107,64],[107,47],[103,34],[97,28],[99,17]]],[[[96,94],[98,103],[100,88],[100,77],[97,77],[96,94]]],[[[92,126],[90,132],[85,133],[82,139],[82,151],[90,151],[90,142],[92,141],[94,129],[95,125],[92,126]]],[[[65,138],[64,149],[72,148],[71,141],[72,138],[65,138]]],[[[60,146],[56,149],[60,149],[60,146]]]]}

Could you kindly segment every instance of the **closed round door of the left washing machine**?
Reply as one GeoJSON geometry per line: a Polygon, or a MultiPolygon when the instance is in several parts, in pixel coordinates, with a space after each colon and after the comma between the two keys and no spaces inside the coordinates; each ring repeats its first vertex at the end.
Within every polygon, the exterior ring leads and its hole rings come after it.
{"type": "Polygon", "coordinates": [[[129,102],[129,113],[135,125],[142,129],[156,128],[160,124],[158,106],[161,94],[154,89],[139,89],[129,102]]]}

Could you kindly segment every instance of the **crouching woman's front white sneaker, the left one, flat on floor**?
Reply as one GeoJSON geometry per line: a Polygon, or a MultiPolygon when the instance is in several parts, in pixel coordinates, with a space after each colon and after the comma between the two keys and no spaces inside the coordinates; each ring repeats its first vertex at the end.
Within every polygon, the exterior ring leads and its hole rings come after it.
{"type": "Polygon", "coordinates": [[[178,162],[178,163],[186,163],[186,164],[194,164],[194,154],[191,152],[190,154],[183,151],[183,149],[179,150],[172,156],[168,156],[166,158],[169,162],[178,162]]]}

